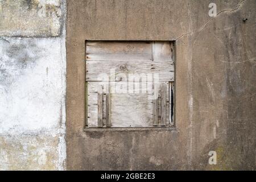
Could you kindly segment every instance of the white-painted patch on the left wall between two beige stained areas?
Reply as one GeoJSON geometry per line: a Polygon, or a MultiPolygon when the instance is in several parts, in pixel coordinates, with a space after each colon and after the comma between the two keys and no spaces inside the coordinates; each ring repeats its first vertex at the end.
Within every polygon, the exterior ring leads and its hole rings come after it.
{"type": "Polygon", "coordinates": [[[61,39],[0,40],[0,59],[0,134],[56,135],[65,90],[61,39]]]}

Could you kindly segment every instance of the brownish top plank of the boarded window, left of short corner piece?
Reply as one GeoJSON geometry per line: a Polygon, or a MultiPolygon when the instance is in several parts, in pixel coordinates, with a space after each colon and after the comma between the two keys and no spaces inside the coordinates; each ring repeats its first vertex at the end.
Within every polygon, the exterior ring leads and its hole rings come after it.
{"type": "Polygon", "coordinates": [[[152,60],[152,42],[86,41],[86,61],[152,60]]]}

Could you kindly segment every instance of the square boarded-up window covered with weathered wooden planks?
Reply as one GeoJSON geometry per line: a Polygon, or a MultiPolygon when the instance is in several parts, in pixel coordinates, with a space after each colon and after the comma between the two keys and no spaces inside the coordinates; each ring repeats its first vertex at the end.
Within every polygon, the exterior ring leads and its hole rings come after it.
{"type": "Polygon", "coordinates": [[[174,124],[174,43],[86,41],[86,126],[174,124]]]}

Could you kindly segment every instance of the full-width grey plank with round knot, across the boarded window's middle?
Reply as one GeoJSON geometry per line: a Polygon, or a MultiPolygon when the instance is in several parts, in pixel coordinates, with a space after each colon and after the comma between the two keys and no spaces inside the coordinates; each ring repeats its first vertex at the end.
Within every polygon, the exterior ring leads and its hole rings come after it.
{"type": "Polygon", "coordinates": [[[102,73],[110,77],[115,75],[115,81],[120,81],[119,77],[125,75],[122,81],[127,80],[129,74],[158,74],[160,82],[174,81],[174,63],[170,60],[163,61],[86,61],[86,81],[104,81],[102,73]],[[112,73],[110,70],[113,69],[112,73]]]}

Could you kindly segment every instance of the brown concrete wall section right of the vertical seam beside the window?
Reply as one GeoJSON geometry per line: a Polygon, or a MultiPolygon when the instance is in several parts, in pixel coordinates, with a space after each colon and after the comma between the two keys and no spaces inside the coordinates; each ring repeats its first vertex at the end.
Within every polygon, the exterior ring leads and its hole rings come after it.
{"type": "Polygon", "coordinates": [[[215,18],[199,15],[207,5],[207,1],[201,6],[191,3],[193,167],[252,170],[256,1],[217,1],[215,18]],[[204,163],[209,150],[217,152],[217,166],[204,163]]]}

